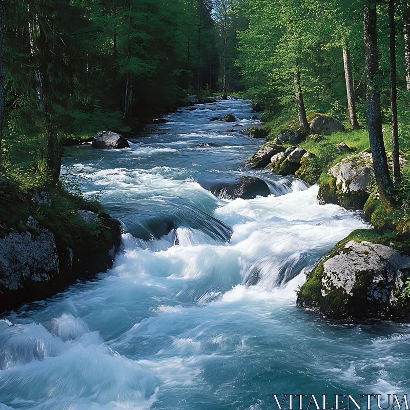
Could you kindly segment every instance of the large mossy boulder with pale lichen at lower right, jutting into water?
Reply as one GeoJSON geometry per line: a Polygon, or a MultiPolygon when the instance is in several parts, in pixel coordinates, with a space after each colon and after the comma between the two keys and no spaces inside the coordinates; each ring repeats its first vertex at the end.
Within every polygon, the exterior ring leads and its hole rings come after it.
{"type": "Polygon", "coordinates": [[[297,303],[333,318],[401,316],[398,294],[409,273],[410,257],[401,252],[383,244],[347,240],[308,274],[297,303]]]}

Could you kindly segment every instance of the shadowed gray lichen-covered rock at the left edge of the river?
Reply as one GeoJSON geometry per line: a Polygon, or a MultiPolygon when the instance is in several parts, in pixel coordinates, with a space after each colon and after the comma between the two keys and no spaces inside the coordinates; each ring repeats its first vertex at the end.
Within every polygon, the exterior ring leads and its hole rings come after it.
{"type": "Polygon", "coordinates": [[[32,232],[11,232],[0,239],[0,287],[8,290],[50,281],[58,273],[59,261],[53,233],[32,217],[27,226],[32,232]]]}

